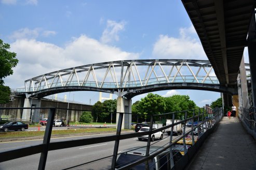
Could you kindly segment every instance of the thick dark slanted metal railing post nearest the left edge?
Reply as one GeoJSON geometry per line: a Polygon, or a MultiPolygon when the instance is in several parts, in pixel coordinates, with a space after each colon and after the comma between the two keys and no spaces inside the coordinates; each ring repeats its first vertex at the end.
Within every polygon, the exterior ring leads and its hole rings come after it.
{"type": "Polygon", "coordinates": [[[45,169],[55,111],[56,111],[55,108],[49,109],[49,115],[48,115],[48,119],[47,119],[47,125],[46,125],[46,129],[45,129],[45,135],[44,135],[44,141],[43,141],[45,148],[44,148],[44,151],[41,153],[38,170],[45,169]]]}

